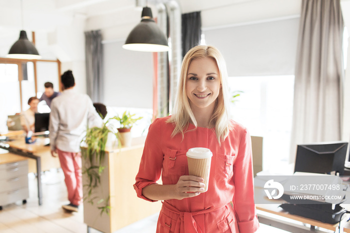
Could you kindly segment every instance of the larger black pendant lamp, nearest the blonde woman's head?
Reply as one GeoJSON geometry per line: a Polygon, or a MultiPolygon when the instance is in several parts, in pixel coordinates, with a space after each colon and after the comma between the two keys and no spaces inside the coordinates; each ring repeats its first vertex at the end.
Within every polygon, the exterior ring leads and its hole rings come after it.
{"type": "Polygon", "coordinates": [[[123,48],[134,51],[168,51],[169,46],[164,33],[157,26],[149,7],[143,7],[141,21],[131,30],[123,48]]]}

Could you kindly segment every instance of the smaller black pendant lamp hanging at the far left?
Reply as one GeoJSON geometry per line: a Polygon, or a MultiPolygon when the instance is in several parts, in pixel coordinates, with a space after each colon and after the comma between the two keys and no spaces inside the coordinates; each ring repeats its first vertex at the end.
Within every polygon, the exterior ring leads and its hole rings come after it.
{"type": "Polygon", "coordinates": [[[20,31],[19,39],[11,46],[6,57],[19,59],[41,58],[34,44],[28,40],[28,37],[26,36],[26,32],[24,30],[20,31]]]}

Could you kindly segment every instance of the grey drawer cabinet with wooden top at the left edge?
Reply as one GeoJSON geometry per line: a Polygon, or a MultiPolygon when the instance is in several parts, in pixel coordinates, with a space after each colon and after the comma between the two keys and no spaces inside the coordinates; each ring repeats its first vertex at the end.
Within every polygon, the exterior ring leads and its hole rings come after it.
{"type": "Polygon", "coordinates": [[[2,205],[26,201],[28,191],[28,160],[13,153],[0,154],[0,209],[2,205]]]}

